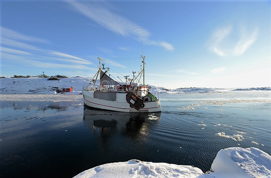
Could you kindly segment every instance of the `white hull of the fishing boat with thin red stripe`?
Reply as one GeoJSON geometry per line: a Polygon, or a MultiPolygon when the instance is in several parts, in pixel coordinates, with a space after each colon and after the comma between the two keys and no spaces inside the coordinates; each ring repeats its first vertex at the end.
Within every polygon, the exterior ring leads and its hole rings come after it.
{"type": "Polygon", "coordinates": [[[95,98],[94,92],[97,91],[82,91],[84,104],[86,104],[86,106],[119,112],[161,112],[160,100],[144,102],[143,107],[139,110],[136,110],[135,108],[131,107],[129,103],[127,103],[126,93],[116,93],[116,101],[109,101],[95,98]]]}

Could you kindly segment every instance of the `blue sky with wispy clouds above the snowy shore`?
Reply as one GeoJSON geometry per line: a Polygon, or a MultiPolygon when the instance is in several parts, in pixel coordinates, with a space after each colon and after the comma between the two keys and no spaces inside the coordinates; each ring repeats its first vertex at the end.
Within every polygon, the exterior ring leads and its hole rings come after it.
{"type": "Polygon", "coordinates": [[[132,78],[143,55],[149,85],[270,87],[270,2],[1,0],[0,76],[92,78],[100,57],[132,78]]]}

